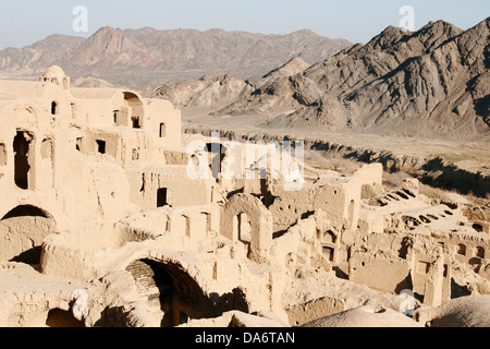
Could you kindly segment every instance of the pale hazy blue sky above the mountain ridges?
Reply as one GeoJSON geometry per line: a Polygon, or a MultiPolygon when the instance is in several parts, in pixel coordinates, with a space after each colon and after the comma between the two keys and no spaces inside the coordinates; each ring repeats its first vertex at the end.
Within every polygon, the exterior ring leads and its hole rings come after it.
{"type": "Polygon", "coordinates": [[[444,20],[467,29],[490,15],[488,0],[0,0],[0,49],[51,34],[88,37],[101,26],[195,28],[287,34],[309,28],[331,38],[367,43],[412,5],[415,28],[444,20]],[[76,33],[73,9],[88,10],[88,32],[76,33]]]}

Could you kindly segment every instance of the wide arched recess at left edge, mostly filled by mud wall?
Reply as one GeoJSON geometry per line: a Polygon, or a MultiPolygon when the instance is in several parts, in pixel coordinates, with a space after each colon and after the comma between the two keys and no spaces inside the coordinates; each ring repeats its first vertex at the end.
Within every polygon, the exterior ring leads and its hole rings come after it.
{"type": "Polygon", "coordinates": [[[0,260],[39,264],[42,241],[54,230],[56,221],[45,210],[15,207],[0,220],[0,260]]]}

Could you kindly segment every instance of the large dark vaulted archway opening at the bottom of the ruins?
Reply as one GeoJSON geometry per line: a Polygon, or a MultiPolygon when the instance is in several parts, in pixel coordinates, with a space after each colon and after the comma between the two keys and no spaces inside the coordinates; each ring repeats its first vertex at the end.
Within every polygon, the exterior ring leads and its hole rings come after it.
{"type": "Polygon", "coordinates": [[[217,315],[212,302],[179,264],[143,258],[131,263],[126,270],[138,293],[147,299],[151,314],[161,320],[161,327],[217,315]]]}

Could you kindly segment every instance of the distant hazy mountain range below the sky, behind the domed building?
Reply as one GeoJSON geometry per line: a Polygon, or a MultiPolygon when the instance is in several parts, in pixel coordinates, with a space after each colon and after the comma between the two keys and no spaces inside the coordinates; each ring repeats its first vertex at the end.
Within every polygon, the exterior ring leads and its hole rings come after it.
{"type": "Polygon", "coordinates": [[[102,27],[89,38],[53,35],[22,49],[0,51],[1,79],[37,79],[58,64],[72,79],[93,76],[131,87],[158,86],[213,71],[261,76],[294,57],[316,63],[351,43],[310,31],[262,35],[210,29],[102,27]]]}

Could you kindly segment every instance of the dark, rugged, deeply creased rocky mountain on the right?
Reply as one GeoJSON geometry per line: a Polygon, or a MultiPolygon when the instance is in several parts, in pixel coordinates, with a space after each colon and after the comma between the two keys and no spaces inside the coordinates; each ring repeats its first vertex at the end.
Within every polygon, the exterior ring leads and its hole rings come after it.
{"type": "Polygon", "coordinates": [[[262,115],[265,128],[406,136],[490,136],[490,19],[463,31],[388,27],[292,76],[256,84],[217,116],[262,115]]]}

